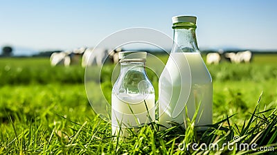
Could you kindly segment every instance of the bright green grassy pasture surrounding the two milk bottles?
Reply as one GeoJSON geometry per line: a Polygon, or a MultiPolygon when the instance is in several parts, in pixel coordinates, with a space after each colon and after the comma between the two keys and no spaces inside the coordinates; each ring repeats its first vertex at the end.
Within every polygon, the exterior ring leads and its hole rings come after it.
{"type": "MultiPolygon", "coordinates": [[[[168,57],[158,56],[163,62],[168,57]]],[[[114,66],[105,65],[101,74],[108,101],[114,66]]],[[[130,129],[129,138],[117,142],[110,124],[91,109],[81,66],[51,67],[46,58],[1,58],[0,154],[264,154],[265,148],[276,154],[277,54],[208,69],[214,90],[211,129],[195,131],[190,120],[186,131],[178,125],[159,131],[159,123],[153,122],[138,132],[130,129]],[[228,142],[257,145],[256,150],[230,150],[224,146],[228,142]],[[196,151],[193,143],[198,144],[196,151]],[[202,143],[223,149],[204,150],[202,143]]],[[[157,94],[159,79],[151,71],[148,76],[157,94]]],[[[93,92],[99,104],[101,94],[93,92]]]]}

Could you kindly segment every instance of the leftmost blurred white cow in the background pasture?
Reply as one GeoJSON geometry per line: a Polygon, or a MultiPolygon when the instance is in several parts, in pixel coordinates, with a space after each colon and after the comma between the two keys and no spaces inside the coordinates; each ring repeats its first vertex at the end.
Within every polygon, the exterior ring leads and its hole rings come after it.
{"type": "Polygon", "coordinates": [[[71,62],[71,59],[69,56],[70,53],[71,51],[52,53],[52,55],[50,56],[51,66],[57,66],[57,65],[69,66],[71,62]]]}

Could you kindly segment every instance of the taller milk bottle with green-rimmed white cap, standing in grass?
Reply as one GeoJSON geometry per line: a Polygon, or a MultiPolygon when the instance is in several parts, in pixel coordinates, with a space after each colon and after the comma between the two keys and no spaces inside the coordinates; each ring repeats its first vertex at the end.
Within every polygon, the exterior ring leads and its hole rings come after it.
{"type": "Polygon", "coordinates": [[[172,17],[172,23],[172,51],[159,79],[159,122],[171,127],[168,121],[173,121],[185,127],[186,117],[192,120],[199,107],[195,125],[212,124],[213,84],[197,47],[196,17],[172,17]]]}

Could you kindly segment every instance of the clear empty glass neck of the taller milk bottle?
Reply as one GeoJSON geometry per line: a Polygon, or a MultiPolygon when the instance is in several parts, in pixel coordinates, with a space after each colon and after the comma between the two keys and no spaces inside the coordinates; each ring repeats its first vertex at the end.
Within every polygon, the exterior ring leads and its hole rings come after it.
{"type": "Polygon", "coordinates": [[[195,25],[174,25],[172,28],[174,29],[172,53],[195,53],[199,51],[195,35],[195,25]]]}

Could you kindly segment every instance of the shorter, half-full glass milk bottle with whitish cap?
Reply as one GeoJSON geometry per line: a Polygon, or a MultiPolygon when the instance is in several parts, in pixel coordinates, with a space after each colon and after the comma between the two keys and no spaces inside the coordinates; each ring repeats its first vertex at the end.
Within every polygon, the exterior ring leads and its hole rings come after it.
{"type": "Polygon", "coordinates": [[[120,75],[111,94],[111,130],[127,136],[126,128],[147,125],[155,119],[154,87],[145,73],[146,52],[118,53],[120,75]]]}

